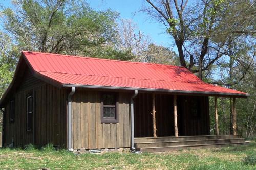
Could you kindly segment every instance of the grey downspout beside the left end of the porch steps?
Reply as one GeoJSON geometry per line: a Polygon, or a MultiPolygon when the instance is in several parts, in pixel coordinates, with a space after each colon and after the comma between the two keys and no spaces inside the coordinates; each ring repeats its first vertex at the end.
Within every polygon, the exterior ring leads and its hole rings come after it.
{"type": "Polygon", "coordinates": [[[136,151],[134,147],[134,107],[133,107],[133,99],[138,95],[138,90],[135,90],[134,95],[131,98],[131,152],[140,154],[140,151],[136,151]]]}

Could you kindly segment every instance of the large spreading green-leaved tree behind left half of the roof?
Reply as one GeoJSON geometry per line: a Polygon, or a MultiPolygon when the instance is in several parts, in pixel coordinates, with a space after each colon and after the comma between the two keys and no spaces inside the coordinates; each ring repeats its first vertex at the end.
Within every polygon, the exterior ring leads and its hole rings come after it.
{"type": "Polygon", "coordinates": [[[94,11],[82,1],[15,1],[2,13],[4,29],[26,50],[82,55],[114,41],[116,12],[94,11]]]}

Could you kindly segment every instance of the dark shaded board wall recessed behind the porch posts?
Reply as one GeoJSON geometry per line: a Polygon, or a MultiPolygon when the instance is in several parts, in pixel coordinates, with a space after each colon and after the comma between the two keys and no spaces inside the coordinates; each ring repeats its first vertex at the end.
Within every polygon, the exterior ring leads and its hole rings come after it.
{"type": "MultiPolygon", "coordinates": [[[[156,94],[157,136],[174,136],[173,95],[156,94]]],[[[209,106],[208,97],[178,96],[177,114],[179,136],[208,135],[209,106]],[[191,102],[197,101],[199,116],[191,115],[191,102]]],[[[134,100],[135,137],[153,137],[152,94],[139,93],[134,100]]]]}

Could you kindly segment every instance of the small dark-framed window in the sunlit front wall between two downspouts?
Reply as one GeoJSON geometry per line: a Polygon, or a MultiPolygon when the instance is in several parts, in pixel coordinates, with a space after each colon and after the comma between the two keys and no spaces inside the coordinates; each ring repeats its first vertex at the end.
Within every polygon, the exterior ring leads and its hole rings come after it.
{"type": "Polygon", "coordinates": [[[103,93],[101,95],[101,123],[118,123],[116,93],[103,93]]]}

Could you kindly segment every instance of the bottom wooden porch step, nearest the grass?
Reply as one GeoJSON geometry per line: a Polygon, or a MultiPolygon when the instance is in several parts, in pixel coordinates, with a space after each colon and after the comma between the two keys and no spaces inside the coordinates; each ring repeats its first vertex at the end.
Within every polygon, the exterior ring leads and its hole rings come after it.
{"type": "Polygon", "coordinates": [[[188,145],[176,145],[176,146],[166,146],[166,147],[146,147],[137,148],[136,150],[141,152],[165,152],[165,151],[179,151],[179,150],[189,150],[189,149],[201,149],[201,148],[219,148],[226,147],[229,145],[245,145],[248,142],[236,142],[236,143],[215,143],[215,144],[188,144],[188,145]]]}

